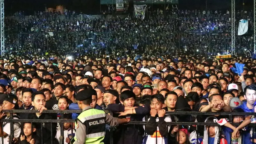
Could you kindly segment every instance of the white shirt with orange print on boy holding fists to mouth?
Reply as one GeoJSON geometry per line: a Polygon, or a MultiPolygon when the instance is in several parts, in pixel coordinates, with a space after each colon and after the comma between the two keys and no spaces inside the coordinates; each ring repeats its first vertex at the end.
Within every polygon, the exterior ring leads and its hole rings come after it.
{"type": "MultiPolygon", "coordinates": [[[[150,118],[148,118],[149,121],[150,118]]],[[[143,117],[142,121],[145,121],[145,117],[143,117]]],[[[159,121],[159,118],[156,118],[156,122],[159,121]]],[[[172,122],[171,116],[170,115],[165,115],[164,118],[165,122],[172,122]]],[[[143,125],[143,128],[145,130],[145,125],[143,125]]],[[[170,131],[170,126],[168,126],[168,132],[170,131]]],[[[157,126],[157,131],[154,132],[153,135],[146,135],[146,144],[156,144],[156,140],[157,140],[157,144],[167,144],[167,138],[164,138],[161,136],[160,132],[159,132],[159,128],[157,126]],[[156,133],[157,132],[157,133],[156,133]],[[157,136],[157,138],[156,138],[157,136]]]]}

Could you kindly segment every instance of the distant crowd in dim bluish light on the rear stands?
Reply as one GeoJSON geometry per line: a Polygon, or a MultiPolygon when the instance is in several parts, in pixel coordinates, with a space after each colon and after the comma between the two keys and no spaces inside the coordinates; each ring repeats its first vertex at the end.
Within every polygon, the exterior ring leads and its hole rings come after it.
{"type": "MultiPolygon", "coordinates": [[[[116,16],[110,20],[104,16],[89,19],[70,11],[65,13],[63,20],[57,12],[35,12],[28,20],[22,13],[17,17],[17,21],[6,19],[6,29],[11,31],[5,33],[7,52],[85,49],[86,52],[107,50],[109,53],[124,53],[138,49],[148,53],[177,50],[217,53],[231,50],[231,17],[228,10],[168,8],[163,12],[159,9],[152,11],[148,7],[144,20],[133,19],[131,15],[124,20],[116,16]]],[[[241,19],[249,21],[249,30],[244,36],[236,36],[239,52],[252,50],[252,11],[236,11],[236,29],[241,19]]]]}

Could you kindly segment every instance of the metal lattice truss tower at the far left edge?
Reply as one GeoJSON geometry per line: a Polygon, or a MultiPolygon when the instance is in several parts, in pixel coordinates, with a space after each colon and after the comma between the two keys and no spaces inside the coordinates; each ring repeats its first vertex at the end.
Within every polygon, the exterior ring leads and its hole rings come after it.
{"type": "Polygon", "coordinates": [[[1,6],[1,57],[5,54],[4,49],[4,0],[0,0],[0,6],[1,6]]]}

